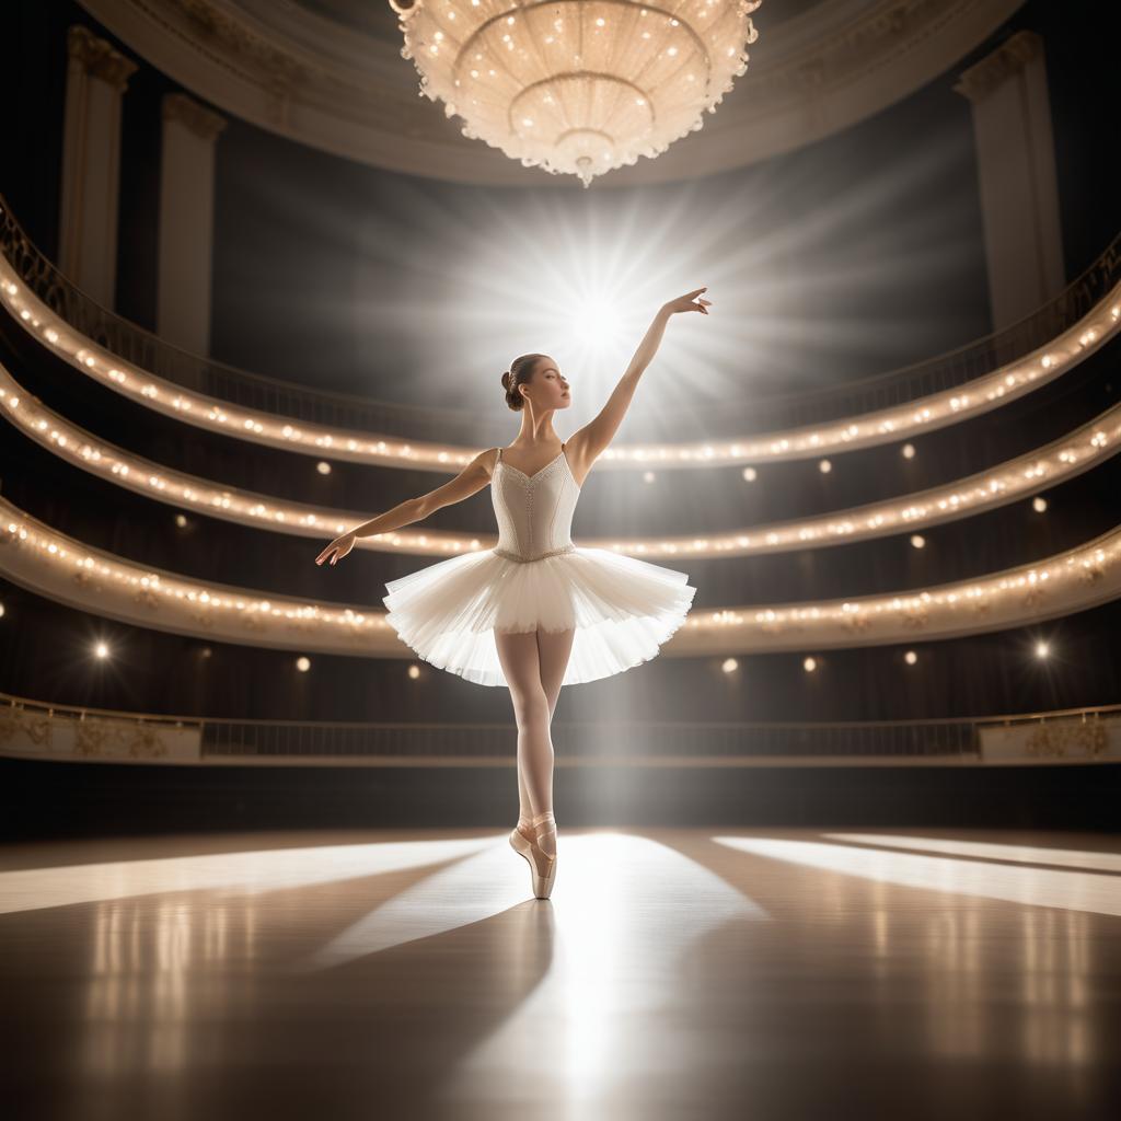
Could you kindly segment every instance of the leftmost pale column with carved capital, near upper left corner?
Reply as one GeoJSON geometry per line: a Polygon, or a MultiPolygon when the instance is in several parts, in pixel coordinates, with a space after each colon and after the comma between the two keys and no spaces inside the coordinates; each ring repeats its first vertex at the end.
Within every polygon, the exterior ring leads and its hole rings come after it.
{"type": "Polygon", "coordinates": [[[117,286],[121,95],[137,67],[81,25],[71,27],[66,47],[58,267],[111,308],[117,286]]]}

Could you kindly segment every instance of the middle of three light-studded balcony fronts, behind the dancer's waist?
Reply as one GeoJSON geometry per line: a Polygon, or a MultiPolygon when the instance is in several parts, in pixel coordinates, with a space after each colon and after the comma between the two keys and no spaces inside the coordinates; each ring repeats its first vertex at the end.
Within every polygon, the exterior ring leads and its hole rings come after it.
{"type": "MultiPolygon", "coordinates": [[[[158,501],[243,526],[300,537],[336,536],[367,515],[289,502],[253,491],[224,488],[132,455],[71,424],[24,390],[0,363],[0,411],[29,438],[91,474],[158,501]]],[[[912,532],[1035,495],[1096,466],[1121,447],[1121,405],[1067,436],[1007,463],[943,487],[889,501],[821,515],[802,521],[762,525],[705,537],[589,539],[583,544],[642,557],[704,558],[784,553],[912,532]]],[[[1039,503],[1044,503],[1043,510],[1039,503]]],[[[393,530],[355,543],[361,548],[408,555],[454,556],[491,548],[493,535],[472,537],[438,530],[393,530]]],[[[914,544],[914,539],[912,539],[914,544]]],[[[925,539],[923,541],[925,545],[925,539]]],[[[923,546],[916,546],[923,547],[923,546]]]]}

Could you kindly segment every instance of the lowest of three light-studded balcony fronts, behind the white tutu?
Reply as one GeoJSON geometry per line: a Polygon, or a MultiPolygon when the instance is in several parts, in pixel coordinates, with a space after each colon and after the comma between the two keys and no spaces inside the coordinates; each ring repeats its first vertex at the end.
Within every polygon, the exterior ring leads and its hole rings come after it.
{"type": "MultiPolygon", "coordinates": [[[[282,649],[370,657],[407,649],[385,612],[262,595],[147,568],[56,532],[0,498],[0,572],[91,614],[282,649]]],[[[1121,526],[1036,564],[917,592],[771,608],[696,609],[665,647],[678,655],[822,650],[1004,630],[1121,596],[1121,526]]]]}

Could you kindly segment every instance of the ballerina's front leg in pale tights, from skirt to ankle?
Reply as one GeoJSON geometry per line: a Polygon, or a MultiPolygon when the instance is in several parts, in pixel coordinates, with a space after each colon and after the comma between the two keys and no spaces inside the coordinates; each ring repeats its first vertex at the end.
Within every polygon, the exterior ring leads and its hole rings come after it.
{"type": "MultiPolygon", "coordinates": [[[[553,809],[553,741],[549,738],[549,703],[541,684],[537,636],[494,632],[499,663],[510,688],[515,719],[518,722],[518,771],[525,782],[528,806],[522,815],[538,815],[553,809]]],[[[519,789],[521,782],[519,781],[519,789]]]]}

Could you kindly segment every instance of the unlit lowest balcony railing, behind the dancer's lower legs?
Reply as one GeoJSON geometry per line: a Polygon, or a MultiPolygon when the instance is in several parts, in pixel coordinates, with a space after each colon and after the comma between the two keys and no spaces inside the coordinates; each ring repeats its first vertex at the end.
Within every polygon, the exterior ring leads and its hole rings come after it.
{"type": "MultiPolygon", "coordinates": [[[[506,767],[515,761],[513,724],[342,723],[266,720],[211,720],[148,715],[52,705],[0,693],[0,754],[11,753],[17,730],[36,729],[40,745],[54,729],[75,723],[100,725],[102,742],[141,743],[115,761],[154,761],[167,752],[152,750],[160,732],[194,732],[201,765],[234,762],[349,763],[388,767],[506,767]],[[8,732],[6,733],[6,729],[8,732]]],[[[1021,713],[978,720],[874,721],[852,723],[743,722],[557,722],[553,743],[560,766],[729,767],[785,761],[810,766],[849,763],[964,763],[982,759],[982,732],[1073,726],[1100,730],[1121,726],[1121,705],[1021,713]]],[[[24,756],[26,752],[18,751],[24,756]]],[[[37,752],[45,758],[48,750],[37,752]]],[[[68,758],[74,758],[70,756],[68,758]]],[[[105,761],[111,761],[106,758],[105,761]]],[[[189,761],[180,759],[178,761],[189,761]]],[[[1081,761],[1072,752],[1051,762],[1081,761]]]]}

